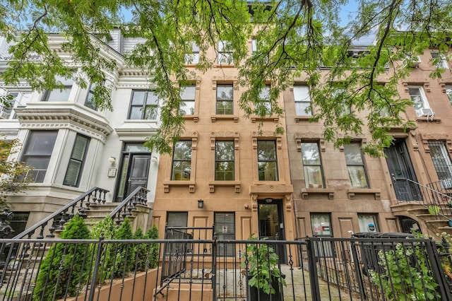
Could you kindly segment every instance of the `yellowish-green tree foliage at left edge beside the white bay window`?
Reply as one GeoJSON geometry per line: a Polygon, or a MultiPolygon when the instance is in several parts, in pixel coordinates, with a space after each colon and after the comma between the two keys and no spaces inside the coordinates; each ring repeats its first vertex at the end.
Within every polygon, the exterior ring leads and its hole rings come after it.
{"type": "Polygon", "coordinates": [[[31,168],[17,160],[9,160],[10,155],[18,153],[20,146],[18,139],[8,141],[5,137],[0,137],[0,175],[4,175],[0,178],[0,208],[8,206],[7,194],[23,191],[29,183],[24,175],[31,168]]]}

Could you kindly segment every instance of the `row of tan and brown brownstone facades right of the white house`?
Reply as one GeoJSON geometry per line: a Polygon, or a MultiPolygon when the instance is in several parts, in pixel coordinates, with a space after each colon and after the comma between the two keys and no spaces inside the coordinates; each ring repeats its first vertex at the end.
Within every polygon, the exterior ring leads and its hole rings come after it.
{"type": "Polygon", "coordinates": [[[198,73],[184,88],[186,131],[173,155],[160,156],[153,222],[161,235],[166,223],[215,223],[220,238],[238,240],[251,233],[293,240],[349,237],[350,231],[415,228],[434,235],[448,230],[446,216],[432,218],[426,206],[431,200],[422,196],[422,189],[444,195],[443,206],[452,179],[452,76],[444,60],[444,77],[429,78],[436,68],[431,66],[434,50],[425,50],[398,87],[400,98],[415,103],[406,109],[405,119],[416,126],[391,129],[396,139],[386,158],[360,151],[370,135],[366,129],[340,149],[324,141],[322,123],[309,122],[316,107],[311,107],[304,78],[280,97],[284,119],[244,119],[237,105],[242,93],[237,69],[220,64],[226,54],[210,50],[208,55],[220,58],[218,65],[198,73]],[[273,136],[278,122],[285,125],[285,134],[273,136]]]}

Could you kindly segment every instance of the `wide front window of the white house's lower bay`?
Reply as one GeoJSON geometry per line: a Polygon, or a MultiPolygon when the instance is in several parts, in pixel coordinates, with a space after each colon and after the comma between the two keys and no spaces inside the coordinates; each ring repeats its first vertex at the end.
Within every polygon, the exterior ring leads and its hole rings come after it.
{"type": "Polygon", "coordinates": [[[57,140],[58,131],[30,131],[22,161],[33,167],[27,174],[31,182],[42,183],[57,140]]]}

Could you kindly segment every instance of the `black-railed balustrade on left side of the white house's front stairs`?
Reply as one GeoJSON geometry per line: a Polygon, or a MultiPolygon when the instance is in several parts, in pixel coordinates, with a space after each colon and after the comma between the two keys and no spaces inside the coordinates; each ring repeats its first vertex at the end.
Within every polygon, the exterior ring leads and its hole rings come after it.
{"type": "Polygon", "coordinates": [[[99,202],[105,203],[105,194],[107,194],[107,192],[109,192],[109,191],[106,189],[99,188],[99,187],[93,187],[90,190],[86,191],[81,196],[78,196],[76,199],[74,199],[70,203],[66,204],[66,206],[61,207],[60,209],[58,209],[51,215],[49,215],[46,218],[44,218],[43,220],[41,220],[40,222],[36,223],[35,225],[32,225],[30,228],[24,230],[23,232],[20,232],[18,235],[13,237],[13,239],[15,239],[15,240],[21,239],[27,235],[28,235],[28,238],[31,238],[31,235],[35,232],[35,230],[37,230],[37,228],[40,228],[40,227],[41,227],[40,235],[38,235],[37,238],[40,238],[40,239],[44,238],[44,235],[43,235],[44,228],[49,223],[49,220],[56,218],[57,216],[59,216],[62,213],[66,214],[66,211],[68,211],[69,208],[72,207],[71,213],[69,213],[69,217],[71,218],[71,216],[73,216],[75,214],[75,208],[76,208],[76,205],[78,202],[81,202],[80,205],[78,206],[78,213],[86,214],[86,213],[84,213],[84,211],[89,210],[90,196],[92,196],[93,192],[95,193],[93,201],[96,202],[97,200],[100,200],[99,202]],[[102,194],[103,194],[103,199],[97,198],[97,195],[96,195],[97,192],[99,192],[99,197],[102,197],[102,194]],[[86,201],[86,204],[85,204],[86,207],[84,207],[83,201],[85,201],[85,199],[87,197],[88,197],[88,200],[86,201]]]}

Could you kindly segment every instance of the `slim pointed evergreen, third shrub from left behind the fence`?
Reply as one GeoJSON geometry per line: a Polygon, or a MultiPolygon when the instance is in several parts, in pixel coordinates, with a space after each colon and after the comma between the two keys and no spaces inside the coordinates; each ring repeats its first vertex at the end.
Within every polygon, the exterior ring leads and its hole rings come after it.
{"type": "MultiPolygon", "coordinates": [[[[130,220],[128,217],[124,219],[121,226],[118,228],[115,240],[133,240],[133,232],[130,220]]],[[[114,246],[114,277],[123,277],[129,273],[135,264],[135,244],[117,244],[114,246]]]]}

